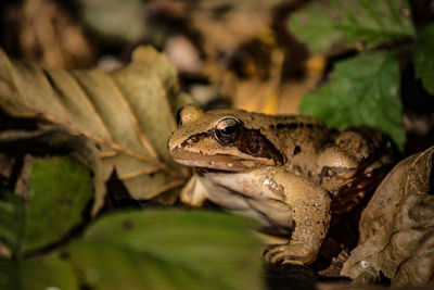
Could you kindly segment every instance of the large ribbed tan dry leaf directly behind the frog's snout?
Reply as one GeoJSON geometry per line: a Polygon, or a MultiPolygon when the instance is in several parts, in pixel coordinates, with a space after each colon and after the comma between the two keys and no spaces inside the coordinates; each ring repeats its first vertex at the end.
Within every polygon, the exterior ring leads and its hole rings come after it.
{"type": "Polygon", "coordinates": [[[101,147],[103,178],[115,169],[135,199],[181,186],[188,172],[169,156],[176,128],[176,70],[150,47],[135,50],[127,67],[40,70],[0,51],[0,106],[14,117],[38,117],[84,135],[101,147]]]}

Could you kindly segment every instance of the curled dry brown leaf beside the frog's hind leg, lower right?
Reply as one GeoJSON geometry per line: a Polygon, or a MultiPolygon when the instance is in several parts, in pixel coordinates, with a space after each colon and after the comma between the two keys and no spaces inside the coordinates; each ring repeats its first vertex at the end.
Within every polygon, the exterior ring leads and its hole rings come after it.
{"type": "Polygon", "coordinates": [[[432,282],[433,163],[434,147],[404,160],[387,175],[362,213],[360,243],[342,275],[358,282],[382,272],[393,286],[432,282]]]}

